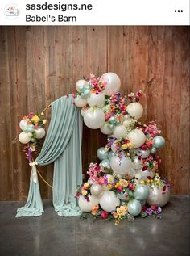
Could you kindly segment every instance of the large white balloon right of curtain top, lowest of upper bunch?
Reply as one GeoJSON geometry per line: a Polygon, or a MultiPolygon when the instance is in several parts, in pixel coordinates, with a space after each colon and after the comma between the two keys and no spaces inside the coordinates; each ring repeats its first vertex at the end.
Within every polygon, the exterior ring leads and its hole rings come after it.
{"type": "Polygon", "coordinates": [[[99,107],[90,107],[85,111],[84,122],[91,129],[101,128],[105,123],[105,114],[99,107]]]}

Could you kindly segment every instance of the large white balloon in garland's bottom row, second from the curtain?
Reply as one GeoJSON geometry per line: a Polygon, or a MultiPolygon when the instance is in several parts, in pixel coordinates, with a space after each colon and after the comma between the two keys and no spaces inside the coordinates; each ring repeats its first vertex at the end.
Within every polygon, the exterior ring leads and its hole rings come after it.
{"type": "Polygon", "coordinates": [[[113,191],[105,191],[100,199],[100,206],[105,212],[113,212],[120,205],[118,196],[113,191]]]}

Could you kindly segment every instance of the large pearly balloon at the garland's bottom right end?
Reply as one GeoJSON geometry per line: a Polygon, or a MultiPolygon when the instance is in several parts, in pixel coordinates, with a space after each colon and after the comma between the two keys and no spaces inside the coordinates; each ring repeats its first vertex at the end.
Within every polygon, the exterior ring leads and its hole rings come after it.
{"type": "Polygon", "coordinates": [[[163,193],[163,187],[150,187],[147,204],[163,207],[170,199],[170,191],[166,185],[163,193]]]}

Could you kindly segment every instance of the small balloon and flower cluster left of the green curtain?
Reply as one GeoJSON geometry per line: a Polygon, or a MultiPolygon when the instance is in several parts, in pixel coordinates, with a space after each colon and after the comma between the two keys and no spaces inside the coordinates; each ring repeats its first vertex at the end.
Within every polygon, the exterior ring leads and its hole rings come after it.
{"type": "Polygon", "coordinates": [[[46,134],[44,129],[46,123],[47,120],[44,118],[43,113],[35,115],[33,112],[23,116],[23,119],[19,122],[19,127],[23,131],[19,134],[19,141],[27,144],[23,152],[25,152],[29,162],[33,161],[33,154],[39,153],[40,140],[46,134]]]}

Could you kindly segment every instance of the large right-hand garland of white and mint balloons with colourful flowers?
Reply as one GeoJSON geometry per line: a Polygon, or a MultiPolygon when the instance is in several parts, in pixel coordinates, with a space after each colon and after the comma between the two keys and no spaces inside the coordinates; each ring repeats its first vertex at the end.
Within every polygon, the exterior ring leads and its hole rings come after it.
{"type": "Polygon", "coordinates": [[[79,207],[117,221],[142,213],[157,215],[170,196],[169,185],[159,177],[160,159],[155,155],[165,144],[161,131],[155,121],[138,121],[143,113],[138,103],[141,91],[122,97],[120,85],[116,73],[101,78],[91,75],[88,81],[76,82],[74,100],[86,126],[100,128],[108,136],[107,145],[97,149],[101,162],[89,165],[89,180],[76,191],[79,207]]]}

